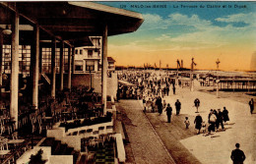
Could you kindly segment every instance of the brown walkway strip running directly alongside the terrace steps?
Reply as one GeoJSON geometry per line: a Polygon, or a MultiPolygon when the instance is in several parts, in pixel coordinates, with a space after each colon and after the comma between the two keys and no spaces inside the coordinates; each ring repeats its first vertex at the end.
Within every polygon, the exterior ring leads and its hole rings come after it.
{"type": "Polygon", "coordinates": [[[174,161],[163,146],[142,112],[137,100],[120,100],[116,104],[118,111],[125,112],[128,120],[124,122],[129,137],[135,163],[137,164],[173,164],[174,161]]]}

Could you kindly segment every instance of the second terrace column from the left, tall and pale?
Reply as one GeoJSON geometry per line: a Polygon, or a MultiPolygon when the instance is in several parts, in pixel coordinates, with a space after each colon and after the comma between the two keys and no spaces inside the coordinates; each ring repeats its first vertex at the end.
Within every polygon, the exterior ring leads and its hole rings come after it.
{"type": "Polygon", "coordinates": [[[38,81],[39,81],[39,26],[34,26],[34,44],[32,50],[32,106],[38,107],[38,81]]]}

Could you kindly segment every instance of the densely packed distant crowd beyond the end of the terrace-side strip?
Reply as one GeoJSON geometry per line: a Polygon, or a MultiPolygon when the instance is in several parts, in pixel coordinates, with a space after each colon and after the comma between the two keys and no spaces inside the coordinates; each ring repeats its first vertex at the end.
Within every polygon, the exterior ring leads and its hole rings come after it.
{"type": "MultiPolygon", "coordinates": [[[[117,89],[117,99],[120,98],[147,98],[151,101],[157,97],[164,97],[170,94],[172,89],[175,94],[175,81],[171,75],[156,75],[151,73],[126,73],[118,75],[118,80],[133,83],[133,85],[125,85],[119,83],[117,89]]],[[[154,108],[154,107],[153,107],[154,108]]]]}

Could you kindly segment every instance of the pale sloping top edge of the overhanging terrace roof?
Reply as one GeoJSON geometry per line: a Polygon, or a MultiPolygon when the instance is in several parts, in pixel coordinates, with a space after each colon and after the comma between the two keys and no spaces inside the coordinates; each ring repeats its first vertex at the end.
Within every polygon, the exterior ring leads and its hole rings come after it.
{"type": "Polygon", "coordinates": [[[84,7],[84,8],[89,8],[97,11],[102,11],[102,12],[107,12],[107,13],[112,13],[112,14],[117,14],[117,15],[122,15],[122,16],[127,16],[131,18],[136,18],[140,20],[144,20],[142,15],[140,13],[136,12],[131,12],[128,10],[124,9],[119,9],[115,7],[110,7],[102,4],[97,4],[94,2],[73,2],[69,1],[68,2],[70,5],[78,6],[78,7],[84,7]]]}

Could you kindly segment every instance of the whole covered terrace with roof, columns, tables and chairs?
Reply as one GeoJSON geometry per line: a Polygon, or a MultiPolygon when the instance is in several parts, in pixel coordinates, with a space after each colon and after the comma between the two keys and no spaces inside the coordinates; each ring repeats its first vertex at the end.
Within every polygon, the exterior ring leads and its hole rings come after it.
{"type": "Polygon", "coordinates": [[[115,144],[124,162],[107,110],[107,36],[135,31],[142,16],[92,2],[0,2],[0,16],[1,163],[32,154],[46,163],[113,162],[115,144]],[[74,50],[92,45],[90,36],[102,37],[97,92],[74,81],[74,50]]]}

